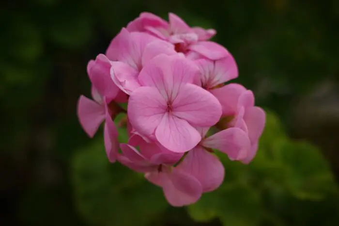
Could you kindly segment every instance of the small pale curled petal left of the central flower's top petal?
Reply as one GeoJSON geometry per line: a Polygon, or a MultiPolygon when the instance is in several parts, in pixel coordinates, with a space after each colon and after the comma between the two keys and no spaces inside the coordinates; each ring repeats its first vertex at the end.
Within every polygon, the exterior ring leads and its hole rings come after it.
{"type": "Polygon", "coordinates": [[[140,87],[138,71],[123,62],[111,62],[110,77],[111,81],[128,95],[140,87]]]}

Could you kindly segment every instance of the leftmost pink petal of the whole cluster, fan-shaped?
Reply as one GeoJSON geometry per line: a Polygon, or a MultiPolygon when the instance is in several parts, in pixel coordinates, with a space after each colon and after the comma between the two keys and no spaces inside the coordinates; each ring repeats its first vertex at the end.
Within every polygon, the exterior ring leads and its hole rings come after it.
{"type": "Polygon", "coordinates": [[[88,136],[93,137],[105,119],[105,107],[85,96],[80,96],[77,102],[77,116],[88,136]]]}

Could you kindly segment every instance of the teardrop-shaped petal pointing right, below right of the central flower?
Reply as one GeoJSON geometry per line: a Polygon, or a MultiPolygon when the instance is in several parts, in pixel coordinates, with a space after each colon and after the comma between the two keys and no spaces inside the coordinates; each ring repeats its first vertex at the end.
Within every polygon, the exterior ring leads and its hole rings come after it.
{"type": "Polygon", "coordinates": [[[224,129],[206,138],[202,145],[215,148],[228,155],[230,160],[242,160],[247,157],[250,149],[248,135],[242,129],[224,129]]]}

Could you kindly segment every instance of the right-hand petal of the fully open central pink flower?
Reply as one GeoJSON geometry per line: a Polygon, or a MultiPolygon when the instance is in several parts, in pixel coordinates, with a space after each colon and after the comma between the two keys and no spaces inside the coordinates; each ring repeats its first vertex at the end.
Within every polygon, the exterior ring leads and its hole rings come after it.
{"type": "Polygon", "coordinates": [[[222,113],[216,97],[201,87],[189,83],[180,87],[172,107],[175,116],[201,127],[215,125],[222,113]]]}

